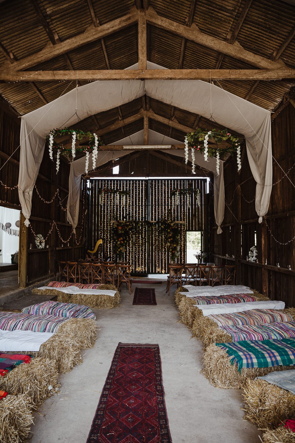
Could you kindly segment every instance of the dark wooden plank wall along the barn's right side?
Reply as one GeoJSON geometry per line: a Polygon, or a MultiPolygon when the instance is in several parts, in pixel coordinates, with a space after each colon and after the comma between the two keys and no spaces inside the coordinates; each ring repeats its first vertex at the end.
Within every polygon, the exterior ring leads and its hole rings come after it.
{"type": "Polygon", "coordinates": [[[216,226],[213,228],[211,252],[218,264],[237,262],[238,283],[295,306],[295,109],[291,104],[272,120],[272,155],[272,194],[261,224],[245,146],[240,173],[236,159],[226,162],[223,232],[217,235],[216,226]],[[255,244],[255,234],[258,263],[250,263],[246,256],[255,244]]]}

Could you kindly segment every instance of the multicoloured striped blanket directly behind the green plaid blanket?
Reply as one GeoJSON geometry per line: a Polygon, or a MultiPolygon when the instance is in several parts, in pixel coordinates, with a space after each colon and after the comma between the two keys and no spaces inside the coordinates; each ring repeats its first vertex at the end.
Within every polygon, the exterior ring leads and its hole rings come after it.
{"type": "Polygon", "coordinates": [[[222,326],[220,329],[230,334],[233,342],[295,338],[295,322],[265,323],[264,325],[254,326],[222,326]]]}

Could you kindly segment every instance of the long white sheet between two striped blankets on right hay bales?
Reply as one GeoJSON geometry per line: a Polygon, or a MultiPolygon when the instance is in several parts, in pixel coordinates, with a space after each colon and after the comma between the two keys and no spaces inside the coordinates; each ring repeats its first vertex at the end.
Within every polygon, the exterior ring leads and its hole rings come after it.
{"type": "Polygon", "coordinates": [[[285,309],[285,303],[277,300],[245,303],[222,303],[214,305],[195,305],[203,315],[230,314],[231,312],[250,311],[250,309],[285,309]]]}

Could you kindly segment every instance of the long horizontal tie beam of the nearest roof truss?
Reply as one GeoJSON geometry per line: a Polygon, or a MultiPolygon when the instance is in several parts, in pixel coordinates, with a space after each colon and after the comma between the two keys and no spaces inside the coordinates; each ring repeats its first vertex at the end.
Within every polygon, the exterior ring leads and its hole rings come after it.
{"type": "MultiPolygon", "coordinates": [[[[99,29],[99,28],[96,28],[99,29]]],[[[74,80],[280,80],[295,78],[295,69],[132,69],[81,71],[0,70],[4,82],[50,82],[74,80]]]]}

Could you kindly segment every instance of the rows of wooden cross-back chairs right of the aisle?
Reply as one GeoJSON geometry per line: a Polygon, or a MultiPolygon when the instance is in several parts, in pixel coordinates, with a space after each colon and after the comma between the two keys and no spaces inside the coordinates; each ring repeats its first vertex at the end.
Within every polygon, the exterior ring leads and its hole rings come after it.
{"type": "Polygon", "coordinates": [[[170,264],[169,276],[167,277],[166,293],[169,292],[172,284],[177,284],[177,288],[184,284],[192,284],[195,286],[202,285],[220,285],[235,284],[236,266],[209,266],[185,263],[170,264]]]}

